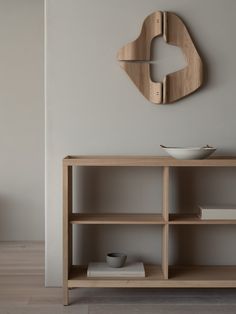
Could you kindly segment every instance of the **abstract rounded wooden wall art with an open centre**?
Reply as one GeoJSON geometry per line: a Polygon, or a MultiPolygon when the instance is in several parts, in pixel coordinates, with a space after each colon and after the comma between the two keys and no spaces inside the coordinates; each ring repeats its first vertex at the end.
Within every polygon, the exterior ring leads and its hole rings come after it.
{"type": "Polygon", "coordinates": [[[203,82],[203,64],[183,21],[174,13],[157,11],[143,22],[139,37],[118,52],[121,67],[140,92],[155,104],[167,104],[197,90],[203,82]],[[154,82],[150,76],[151,42],[163,36],[171,45],[182,49],[187,66],[154,82]]]}

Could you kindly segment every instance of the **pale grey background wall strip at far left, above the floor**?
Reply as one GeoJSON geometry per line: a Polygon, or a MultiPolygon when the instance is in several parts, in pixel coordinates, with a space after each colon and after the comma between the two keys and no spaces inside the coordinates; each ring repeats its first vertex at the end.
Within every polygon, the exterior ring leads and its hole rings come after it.
{"type": "Polygon", "coordinates": [[[0,1],[0,240],[44,239],[43,0],[0,1]]]}

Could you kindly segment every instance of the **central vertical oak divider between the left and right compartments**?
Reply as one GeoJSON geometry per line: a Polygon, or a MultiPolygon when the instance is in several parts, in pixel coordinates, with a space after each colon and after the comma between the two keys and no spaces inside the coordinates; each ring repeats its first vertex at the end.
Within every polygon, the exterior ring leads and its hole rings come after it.
{"type": "Polygon", "coordinates": [[[162,227],[162,272],[164,279],[169,277],[169,185],[170,168],[164,166],[162,177],[162,215],[165,221],[162,227]]]}

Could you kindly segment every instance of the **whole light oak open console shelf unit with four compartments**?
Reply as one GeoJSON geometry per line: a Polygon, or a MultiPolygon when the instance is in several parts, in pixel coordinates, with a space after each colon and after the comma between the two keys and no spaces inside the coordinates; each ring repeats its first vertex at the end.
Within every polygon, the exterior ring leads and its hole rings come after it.
{"type": "Polygon", "coordinates": [[[196,215],[169,214],[169,181],[172,167],[236,167],[236,157],[205,160],[175,160],[150,156],[67,156],[63,159],[63,290],[69,304],[69,289],[79,287],[236,287],[236,266],[169,266],[168,243],[171,225],[236,224],[236,220],[200,220],[196,215]],[[161,167],[163,196],[161,214],[73,213],[72,168],[80,167],[161,167]],[[160,225],[161,265],[145,265],[145,278],[87,278],[86,266],[72,263],[72,225],[160,225]]]}

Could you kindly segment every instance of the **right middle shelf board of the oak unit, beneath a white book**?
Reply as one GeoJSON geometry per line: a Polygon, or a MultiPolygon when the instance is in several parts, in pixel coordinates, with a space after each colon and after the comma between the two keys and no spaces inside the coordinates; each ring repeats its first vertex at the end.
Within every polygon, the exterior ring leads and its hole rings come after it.
{"type": "Polygon", "coordinates": [[[172,225],[235,225],[235,219],[203,220],[197,214],[170,214],[169,224],[172,225]]]}

